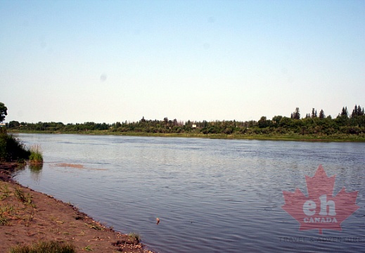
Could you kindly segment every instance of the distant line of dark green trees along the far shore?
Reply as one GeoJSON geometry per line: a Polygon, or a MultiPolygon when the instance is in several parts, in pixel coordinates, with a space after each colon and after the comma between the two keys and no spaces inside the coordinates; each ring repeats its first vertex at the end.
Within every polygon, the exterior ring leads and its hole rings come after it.
{"type": "Polygon", "coordinates": [[[324,110],[319,113],[313,108],[311,113],[301,117],[299,108],[289,116],[275,116],[272,119],[261,117],[258,121],[190,121],[177,119],[145,119],[139,122],[115,122],[113,124],[84,122],[83,124],[63,124],[62,122],[27,123],[11,121],[8,129],[19,131],[46,131],[50,133],[85,133],[88,131],[105,131],[110,133],[151,133],[151,134],[365,134],[364,108],[355,105],[351,113],[343,107],[335,119],[326,117],[324,110]]]}

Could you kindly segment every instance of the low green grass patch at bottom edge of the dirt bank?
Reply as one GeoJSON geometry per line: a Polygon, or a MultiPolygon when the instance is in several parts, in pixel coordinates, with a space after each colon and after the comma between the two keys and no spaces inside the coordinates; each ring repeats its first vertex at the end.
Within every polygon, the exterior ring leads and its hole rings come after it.
{"type": "Polygon", "coordinates": [[[9,253],[75,253],[75,246],[68,242],[37,242],[33,245],[11,247],[9,253]]]}

